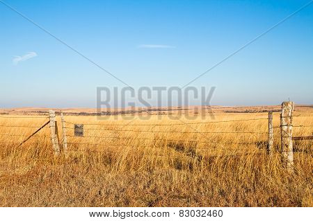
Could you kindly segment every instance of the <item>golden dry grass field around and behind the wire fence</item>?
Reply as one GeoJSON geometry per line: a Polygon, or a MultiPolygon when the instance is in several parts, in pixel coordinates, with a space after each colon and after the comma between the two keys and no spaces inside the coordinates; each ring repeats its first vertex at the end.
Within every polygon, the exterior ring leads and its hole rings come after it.
{"type": "MultiPolygon", "coordinates": [[[[312,141],[295,141],[290,174],[280,128],[276,151],[266,154],[266,112],[215,116],[66,115],[67,156],[54,157],[49,127],[18,147],[48,118],[0,115],[0,206],[313,206],[312,141]],[[83,137],[73,123],[84,124],[83,137]]],[[[294,136],[312,136],[313,113],[294,116],[294,125],[307,125],[294,136]]],[[[280,125],[279,113],[273,121],[280,125]]]]}

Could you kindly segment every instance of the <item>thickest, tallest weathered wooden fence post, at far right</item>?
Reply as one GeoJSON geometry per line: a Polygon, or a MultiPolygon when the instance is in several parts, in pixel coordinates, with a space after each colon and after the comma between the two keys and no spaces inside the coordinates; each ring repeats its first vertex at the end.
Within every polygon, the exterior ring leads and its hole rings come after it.
{"type": "Polygon", "coordinates": [[[292,143],[292,112],[294,102],[284,101],[282,103],[282,114],[280,114],[280,133],[282,160],[287,166],[287,170],[294,170],[294,152],[292,143]]]}

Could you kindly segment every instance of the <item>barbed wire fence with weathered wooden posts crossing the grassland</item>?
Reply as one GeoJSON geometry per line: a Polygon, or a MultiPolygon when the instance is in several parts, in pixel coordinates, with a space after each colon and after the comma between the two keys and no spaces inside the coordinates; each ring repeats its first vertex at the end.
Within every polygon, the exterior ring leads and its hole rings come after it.
{"type": "MultiPolygon", "coordinates": [[[[273,153],[274,147],[274,130],[280,129],[281,146],[280,152],[282,158],[287,162],[287,167],[292,168],[294,152],[294,141],[312,140],[312,134],[305,134],[305,136],[292,136],[293,127],[313,127],[313,125],[293,125],[292,118],[300,117],[313,117],[313,115],[292,115],[294,110],[294,103],[284,102],[282,103],[282,113],[280,114],[280,125],[273,126],[273,112],[268,113],[268,117],[238,119],[229,121],[207,121],[207,122],[180,122],[180,123],[83,123],[77,124],[71,121],[65,121],[63,113],[61,112],[61,125],[62,125],[62,137],[58,136],[58,123],[56,121],[56,114],[54,111],[49,111],[49,116],[0,116],[0,128],[7,129],[6,133],[1,133],[0,143],[13,144],[16,147],[22,146],[24,143],[29,142],[33,137],[38,136],[50,136],[51,143],[56,155],[63,151],[65,154],[70,151],[88,151],[88,152],[107,152],[101,148],[90,149],[86,146],[95,147],[124,147],[134,148],[138,145],[151,145],[152,147],[160,147],[160,145],[167,145],[172,148],[195,148],[195,150],[209,150],[209,151],[236,151],[242,152],[242,154],[259,154],[259,153],[273,153]],[[1,119],[42,119],[43,122],[40,125],[17,125],[1,122],[1,119]],[[217,123],[240,123],[240,122],[257,122],[268,121],[268,131],[246,131],[246,130],[228,130],[228,131],[198,131],[191,125],[214,125],[217,123]],[[188,126],[193,131],[177,130],[182,129],[182,126],[188,126]],[[131,127],[131,128],[129,128],[131,127]],[[29,134],[17,134],[12,133],[8,128],[20,128],[28,129],[32,131],[29,134]],[[45,128],[50,129],[50,134],[40,134],[45,128]],[[78,129],[80,134],[77,133],[78,129]],[[159,129],[159,130],[157,130],[159,129]],[[129,132],[129,133],[128,133],[129,132]],[[143,133],[143,134],[141,134],[143,133]],[[151,136],[147,136],[151,134],[151,136]],[[123,136],[120,136],[122,134],[123,136]],[[174,139],[172,136],[168,139],[167,134],[175,134],[180,138],[174,139]],[[236,136],[249,136],[248,141],[225,141],[225,139],[218,136],[212,136],[214,134],[236,134],[236,136]],[[141,136],[140,136],[141,135],[141,136]],[[144,136],[142,136],[144,135],[144,136]],[[190,136],[193,136],[190,138],[190,136]],[[267,139],[266,139],[267,136],[267,139]],[[13,137],[13,141],[3,141],[3,138],[13,137]],[[255,139],[251,139],[251,138],[255,139]],[[21,141],[17,142],[19,138],[21,141]],[[200,138],[200,139],[199,139],[200,138]],[[260,141],[259,138],[262,138],[260,141]],[[264,139],[265,138],[265,139],[264,139]],[[93,140],[93,142],[86,142],[86,139],[93,140]],[[85,140],[85,141],[84,141],[85,140]],[[213,145],[213,147],[212,147],[213,145]],[[236,145],[236,148],[229,148],[230,145],[236,145]],[[262,148],[247,148],[250,145],[254,145],[262,148]],[[243,146],[246,148],[238,148],[243,146]],[[69,148],[68,148],[69,147],[69,148]],[[85,148],[81,148],[85,147],[85,148]],[[250,150],[250,151],[249,151],[250,150]]],[[[134,121],[134,120],[133,120],[134,121]]],[[[226,154],[225,152],[223,154],[226,154]]]]}

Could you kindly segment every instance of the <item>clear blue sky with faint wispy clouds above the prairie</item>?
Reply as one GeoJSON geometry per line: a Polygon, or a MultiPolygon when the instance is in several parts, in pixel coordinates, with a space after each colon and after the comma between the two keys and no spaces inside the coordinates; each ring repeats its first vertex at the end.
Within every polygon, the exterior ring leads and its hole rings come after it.
{"type": "MultiPolygon", "coordinates": [[[[308,2],[1,1],[135,89],[186,85],[308,2]]],[[[0,107],[95,107],[125,86],[1,3],[0,28],[0,107]]],[[[215,86],[211,105],[312,104],[312,61],[313,3],[191,86],[215,86]]]]}

